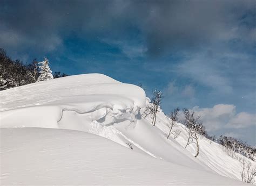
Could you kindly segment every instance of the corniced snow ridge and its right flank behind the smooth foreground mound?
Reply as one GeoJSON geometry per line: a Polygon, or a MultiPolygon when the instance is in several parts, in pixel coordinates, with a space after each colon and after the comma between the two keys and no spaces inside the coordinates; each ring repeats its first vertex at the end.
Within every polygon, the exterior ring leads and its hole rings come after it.
{"type": "MultiPolygon", "coordinates": [[[[208,157],[209,153],[204,151],[195,159],[191,154],[194,147],[187,148],[188,151],[183,147],[186,140],[184,130],[177,139],[167,140],[165,134],[169,118],[163,112],[158,113],[156,127],[150,124],[150,118],[144,119],[141,115],[145,104],[149,103],[143,89],[102,74],[68,76],[4,90],[0,92],[0,103],[1,128],[40,127],[88,132],[126,148],[129,148],[128,143],[132,144],[133,152],[162,159],[178,167],[213,175],[215,172],[239,180],[237,162],[227,158],[224,169],[221,166],[226,160],[225,154],[221,154],[224,155],[223,161],[212,158],[212,155],[208,157]]],[[[180,124],[179,127],[182,129],[184,126],[180,124]]],[[[204,143],[207,146],[208,142],[204,140],[204,143]]],[[[211,147],[202,149],[212,151],[211,147]]],[[[213,151],[222,150],[214,146],[213,151]]],[[[9,152],[6,153],[8,156],[9,152]]]]}

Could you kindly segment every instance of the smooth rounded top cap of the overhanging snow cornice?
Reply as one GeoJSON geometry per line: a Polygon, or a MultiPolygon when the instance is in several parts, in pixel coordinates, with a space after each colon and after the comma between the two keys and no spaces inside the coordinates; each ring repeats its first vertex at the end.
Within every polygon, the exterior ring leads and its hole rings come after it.
{"type": "Polygon", "coordinates": [[[100,104],[125,109],[145,105],[145,92],[132,84],[120,83],[102,74],[58,78],[2,91],[0,111],[36,105],[75,105],[84,112],[100,104]],[[83,104],[83,103],[86,103],[83,104]]]}

